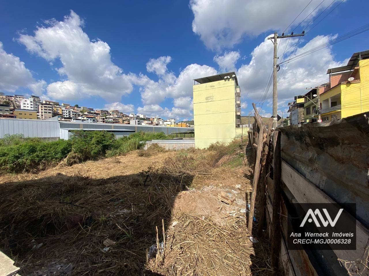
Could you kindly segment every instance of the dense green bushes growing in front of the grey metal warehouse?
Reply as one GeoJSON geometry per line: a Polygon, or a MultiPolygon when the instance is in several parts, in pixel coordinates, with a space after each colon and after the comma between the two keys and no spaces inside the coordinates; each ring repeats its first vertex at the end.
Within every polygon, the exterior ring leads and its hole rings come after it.
{"type": "Polygon", "coordinates": [[[163,133],[136,132],[115,139],[106,131],[75,131],[70,140],[47,142],[40,138],[24,138],[21,134],[0,139],[0,171],[37,171],[54,162],[71,165],[103,156],[123,155],[142,148],[141,141],[165,139],[163,133]]]}

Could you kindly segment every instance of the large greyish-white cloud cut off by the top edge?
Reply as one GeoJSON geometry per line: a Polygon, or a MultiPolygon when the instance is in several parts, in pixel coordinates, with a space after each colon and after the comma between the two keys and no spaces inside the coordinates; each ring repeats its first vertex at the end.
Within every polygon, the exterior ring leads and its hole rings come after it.
{"type": "MultiPolygon", "coordinates": [[[[308,24],[330,4],[324,1],[313,11],[320,3],[321,0],[311,1],[291,27],[311,13],[302,25],[308,24]]],[[[231,48],[241,42],[245,36],[271,30],[284,31],[306,5],[306,0],[213,0],[211,3],[209,0],[191,0],[190,8],[194,14],[192,30],[208,49],[220,52],[224,47],[231,48]]]]}

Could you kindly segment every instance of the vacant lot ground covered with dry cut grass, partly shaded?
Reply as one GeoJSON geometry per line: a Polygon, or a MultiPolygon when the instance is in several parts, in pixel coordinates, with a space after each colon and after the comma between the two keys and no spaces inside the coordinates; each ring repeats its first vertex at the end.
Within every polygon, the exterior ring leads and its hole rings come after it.
{"type": "Polygon", "coordinates": [[[274,275],[268,240],[246,230],[252,170],[241,152],[135,151],[3,175],[0,250],[23,276],[274,275]],[[146,259],[157,241],[161,254],[146,259]]]}

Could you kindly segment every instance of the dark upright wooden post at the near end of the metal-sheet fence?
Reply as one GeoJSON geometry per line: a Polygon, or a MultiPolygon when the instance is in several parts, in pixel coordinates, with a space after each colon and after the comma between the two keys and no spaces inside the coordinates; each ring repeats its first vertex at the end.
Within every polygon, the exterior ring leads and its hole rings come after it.
{"type": "Polygon", "coordinates": [[[272,231],[271,231],[271,263],[272,268],[278,269],[280,253],[280,201],[281,201],[281,152],[280,131],[274,132],[274,154],[273,154],[273,209],[272,209],[272,231]]]}

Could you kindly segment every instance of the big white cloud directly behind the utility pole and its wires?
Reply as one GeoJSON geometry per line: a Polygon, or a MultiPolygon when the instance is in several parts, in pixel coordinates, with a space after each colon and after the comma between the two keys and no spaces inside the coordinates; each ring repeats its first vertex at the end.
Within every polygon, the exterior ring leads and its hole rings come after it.
{"type": "MultiPolygon", "coordinates": [[[[292,57],[306,52],[318,45],[324,44],[335,38],[335,36],[316,36],[315,38],[304,41],[301,45],[296,47],[292,57]]],[[[291,39],[289,46],[297,42],[297,39],[291,39]]],[[[300,40],[302,42],[302,40],[300,40]]],[[[287,41],[282,41],[280,49],[285,49],[287,41]]],[[[288,47],[287,46],[287,49],[288,47]]],[[[280,55],[283,53],[280,53],[280,55]]],[[[294,47],[291,47],[288,52],[284,54],[283,60],[288,60],[294,47]]],[[[265,88],[267,79],[269,77],[270,69],[273,65],[273,44],[265,38],[265,40],[255,47],[251,53],[251,61],[249,64],[244,64],[238,68],[237,78],[241,87],[241,96],[245,96],[254,102],[262,96],[262,92],[265,88]]],[[[282,58],[282,57],[281,57],[282,58]]],[[[279,60],[281,62],[282,60],[279,60]]],[[[278,99],[279,100],[292,100],[294,96],[300,95],[304,92],[304,89],[312,84],[323,83],[328,80],[326,75],[328,68],[342,66],[344,63],[335,61],[334,53],[332,52],[332,46],[324,48],[306,57],[303,57],[297,61],[292,61],[284,66],[280,67],[277,73],[278,81],[278,99]],[[283,72],[283,73],[282,73],[283,72]]],[[[272,88],[270,86],[267,100],[272,97],[272,88]]]]}

